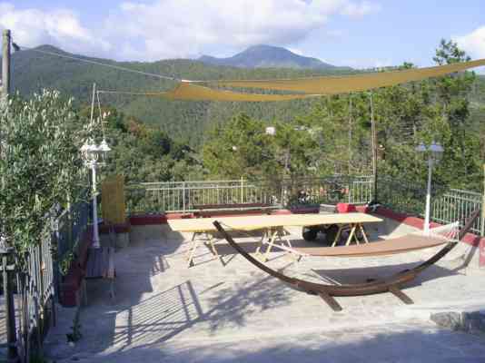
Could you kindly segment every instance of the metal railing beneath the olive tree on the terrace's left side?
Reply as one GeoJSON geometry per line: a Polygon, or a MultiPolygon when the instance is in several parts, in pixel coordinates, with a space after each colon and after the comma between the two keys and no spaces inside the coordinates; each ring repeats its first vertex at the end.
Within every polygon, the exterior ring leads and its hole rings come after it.
{"type": "Polygon", "coordinates": [[[47,216],[38,244],[28,248],[23,255],[12,249],[8,257],[9,263],[15,266],[9,279],[16,283],[15,336],[23,361],[29,361],[30,348],[42,347],[45,332],[54,318],[61,262],[71,252],[75,253],[88,223],[89,207],[90,203],[83,201],[57,217],[47,216]]]}

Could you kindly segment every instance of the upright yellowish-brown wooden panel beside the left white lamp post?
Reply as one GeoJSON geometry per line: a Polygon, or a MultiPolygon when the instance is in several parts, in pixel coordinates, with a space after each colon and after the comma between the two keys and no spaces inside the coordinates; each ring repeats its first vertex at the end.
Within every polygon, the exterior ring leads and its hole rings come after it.
{"type": "Polygon", "coordinates": [[[101,195],[103,220],[112,224],[124,223],[126,221],[124,176],[116,175],[104,180],[101,195]]]}

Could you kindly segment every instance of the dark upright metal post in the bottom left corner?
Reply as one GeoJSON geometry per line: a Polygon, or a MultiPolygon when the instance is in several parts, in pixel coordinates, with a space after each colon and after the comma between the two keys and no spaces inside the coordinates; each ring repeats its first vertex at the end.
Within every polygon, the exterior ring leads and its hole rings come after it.
{"type": "Polygon", "coordinates": [[[10,271],[8,270],[8,256],[12,253],[12,249],[2,251],[2,269],[4,280],[4,296],[5,296],[5,325],[6,325],[6,342],[7,361],[18,361],[16,348],[16,329],[15,329],[15,305],[14,305],[14,290],[12,289],[12,279],[10,271]]]}

